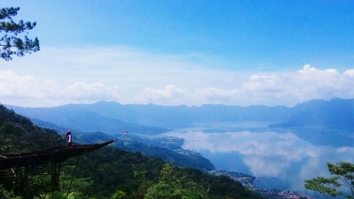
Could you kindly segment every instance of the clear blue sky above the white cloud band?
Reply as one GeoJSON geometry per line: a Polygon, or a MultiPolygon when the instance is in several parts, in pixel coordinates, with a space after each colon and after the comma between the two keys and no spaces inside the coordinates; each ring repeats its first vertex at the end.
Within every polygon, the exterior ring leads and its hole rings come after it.
{"type": "MultiPolygon", "coordinates": [[[[11,1],[42,46],[221,56],[241,69],[353,67],[353,1],[11,1]]],[[[230,66],[231,67],[231,66],[230,66]]],[[[237,69],[236,66],[232,66],[237,69]]]]}

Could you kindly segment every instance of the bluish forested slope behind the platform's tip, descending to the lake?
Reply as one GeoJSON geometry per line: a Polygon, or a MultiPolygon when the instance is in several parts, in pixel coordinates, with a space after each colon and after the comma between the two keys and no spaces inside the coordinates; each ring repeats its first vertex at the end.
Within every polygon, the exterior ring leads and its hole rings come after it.
{"type": "MultiPolygon", "coordinates": [[[[40,127],[55,129],[57,132],[66,132],[67,129],[47,123],[38,119],[31,119],[33,123],[40,127]]],[[[120,135],[108,135],[104,132],[74,132],[74,140],[85,144],[93,144],[97,142],[105,142],[106,140],[113,140],[120,135]]],[[[190,152],[181,148],[184,140],[177,137],[150,137],[135,135],[130,133],[128,137],[115,142],[113,145],[128,152],[140,152],[149,157],[158,157],[164,159],[175,166],[185,166],[202,171],[211,171],[215,166],[209,159],[205,159],[196,152],[190,152]]]]}

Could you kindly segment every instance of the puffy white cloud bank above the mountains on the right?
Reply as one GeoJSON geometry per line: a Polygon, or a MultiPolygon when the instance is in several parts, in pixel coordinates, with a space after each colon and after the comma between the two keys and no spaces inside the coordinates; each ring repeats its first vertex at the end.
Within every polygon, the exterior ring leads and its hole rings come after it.
{"type": "Polygon", "coordinates": [[[321,70],[307,64],[297,72],[254,74],[243,84],[235,85],[234,89],[216,89],[215,87],[202,89],[201,96],[216,99],[216,101],[209,101],[210,103],[290,106],[312,98],[353,98],[353,71],[347,70],[341,74],[336,69],[321,70]]]}

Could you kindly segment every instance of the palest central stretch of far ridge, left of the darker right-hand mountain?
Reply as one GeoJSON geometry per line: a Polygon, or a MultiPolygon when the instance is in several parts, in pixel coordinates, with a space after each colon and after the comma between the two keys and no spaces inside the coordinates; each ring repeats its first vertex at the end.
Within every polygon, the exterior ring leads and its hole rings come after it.
{"type": "Polygon", "coordinates": [[[232,121],[280,121],[287,114],[285,106],[160,106],[155,104],[127,104],[98,101],[80,104],[80,108],[93,111],[110,118],[130,123],[153,125],[166,128],[189,127],[193,123],[232,121]],[[273,113],[272,113],[273,112],[273,113]]]}

